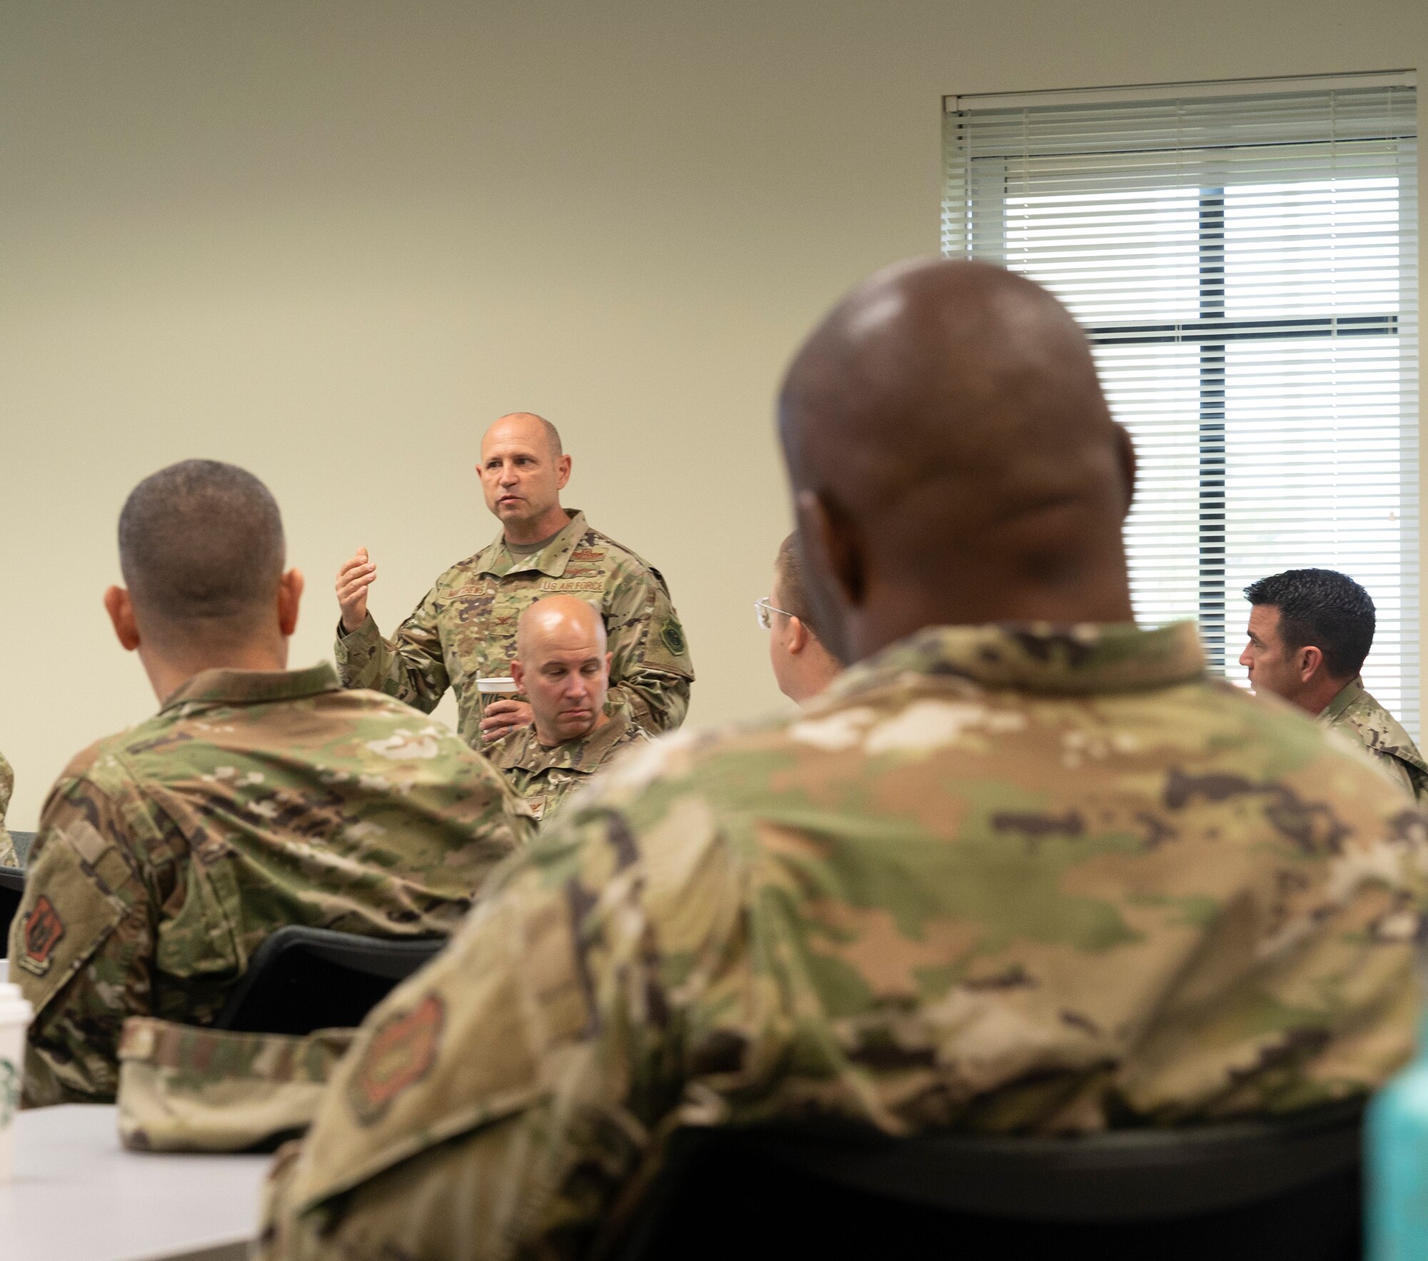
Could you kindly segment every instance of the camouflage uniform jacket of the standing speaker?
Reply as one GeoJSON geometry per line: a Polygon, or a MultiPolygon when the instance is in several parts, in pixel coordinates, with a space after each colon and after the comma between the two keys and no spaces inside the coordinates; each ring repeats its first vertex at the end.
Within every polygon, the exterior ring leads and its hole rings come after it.
{"type": "MultiPolygon", "coordinates": [[[[477,678],[508,675],[516,621],[547,596],[575,596],[604,616],[614,663],[611,711],[621,705],[645,731],[671,731],[690,707],[694,665],[660,571],[571,513],[570,524],[533,556],[513,556],[506,536],[451,566],[391,640],[367,620],[351,634],[337,624],[337,670],[347,687],[374,687],[431,713],[456,688],[457,730],[481,747],[481,715],[500,695],[477,678]]],[[[508,697],[507,697],[508,698],[508,697]]]]}

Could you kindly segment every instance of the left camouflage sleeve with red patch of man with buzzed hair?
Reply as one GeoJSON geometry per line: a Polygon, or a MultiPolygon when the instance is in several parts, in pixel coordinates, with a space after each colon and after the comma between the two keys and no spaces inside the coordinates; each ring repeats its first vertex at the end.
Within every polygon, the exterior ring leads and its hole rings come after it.
{"type": "Polygon", "coordinates": [[[113,1101],[124,1018],[150,1011],[156,914],[124,811],[61,778],[10,928],[10,980],[34,1005],[26,1107],[113,1101]]]}

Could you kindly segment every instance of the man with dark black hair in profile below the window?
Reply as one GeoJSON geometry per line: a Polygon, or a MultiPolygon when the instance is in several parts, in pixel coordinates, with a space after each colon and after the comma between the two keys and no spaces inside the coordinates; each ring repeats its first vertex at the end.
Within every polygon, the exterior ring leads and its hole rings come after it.
{"type": "Polygon", "coordinates": [[[1240,664],[1255,691],[1274,693],[1362,744],[1428,805],[1428,763],[1412,737],[1365,690],[1374,600],[1334,570],[1285,570],[1245,587],[1250,643],[1240,664]]]}

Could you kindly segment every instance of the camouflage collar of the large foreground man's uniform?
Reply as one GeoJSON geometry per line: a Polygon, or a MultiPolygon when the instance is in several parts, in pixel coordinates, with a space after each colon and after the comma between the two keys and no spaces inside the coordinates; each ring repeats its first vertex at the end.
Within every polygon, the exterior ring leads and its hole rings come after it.
{"type": "Polygon", "coordinates": [[[1085,695],[1170,687],[1204,673],[1205,654],[1190,621],[1152,631],[1130,623],[934,626],[844,671],[824,695],[830,701],[847,700],[907,675],[1085,695]]]}

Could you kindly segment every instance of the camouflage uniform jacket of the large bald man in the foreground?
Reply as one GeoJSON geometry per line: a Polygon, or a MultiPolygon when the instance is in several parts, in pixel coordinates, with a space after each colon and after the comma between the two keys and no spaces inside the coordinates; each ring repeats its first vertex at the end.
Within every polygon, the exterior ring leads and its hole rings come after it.
{"type": "Polygon", "coordinates": [[[932,627],[621,758],[368,1017],[264,1258],[585,1255],[677,1124],[1055,1132],[1409,1055],[1425,823],[1190,626],[932,627]]]}

